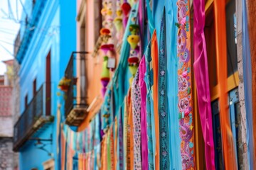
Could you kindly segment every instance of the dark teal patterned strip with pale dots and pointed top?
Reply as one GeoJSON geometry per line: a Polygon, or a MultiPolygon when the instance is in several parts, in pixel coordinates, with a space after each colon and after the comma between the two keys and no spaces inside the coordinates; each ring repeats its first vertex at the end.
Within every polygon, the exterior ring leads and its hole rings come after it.
{"type": "Polygon", "coordinates": [[[159,44],[159,146],[160,169],[169,169],[169,121],[167,114],[167,82],[166,82],[166,18],[165,8],[161,18],[159,44]]]}

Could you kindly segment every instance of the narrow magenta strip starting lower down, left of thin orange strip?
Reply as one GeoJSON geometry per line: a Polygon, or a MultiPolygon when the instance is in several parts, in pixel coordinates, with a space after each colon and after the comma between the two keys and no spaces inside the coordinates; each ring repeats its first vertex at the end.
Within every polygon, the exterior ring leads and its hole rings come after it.
{"type": "Polygon", "coordinates": [[[148,145],[146,132],[146,83],[144,77],[146,74],[145,57],[139,64],[139,87],[141,89],[142,104],[141,104],[141,129],[142,129],[142,169],[149,169],[148,145]]]}

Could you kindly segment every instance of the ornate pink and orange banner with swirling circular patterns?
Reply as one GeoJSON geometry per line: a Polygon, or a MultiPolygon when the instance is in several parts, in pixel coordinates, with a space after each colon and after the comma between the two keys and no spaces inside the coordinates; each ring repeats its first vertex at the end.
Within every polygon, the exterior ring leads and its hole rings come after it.
{"type": "Polygon", "coordinates": [[[189,1],[178,0],[178,109],[182,169],[195,169],[191,94],[191,28],[189,1]]]}

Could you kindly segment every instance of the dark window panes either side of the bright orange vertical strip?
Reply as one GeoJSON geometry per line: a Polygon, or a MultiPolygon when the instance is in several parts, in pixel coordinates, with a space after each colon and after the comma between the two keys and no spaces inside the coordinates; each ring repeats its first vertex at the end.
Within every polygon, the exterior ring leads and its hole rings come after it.
{"type": "MultiPolygon", "coordinates": [[[[238,101],[238,55],[237,55],[237,32],[236,32],[236,16],[235,16],[235,0],[230,0],[225,6],[226,11],[226,38],[227,38],[227,88],[229,97],[230,111],[230,127],[233,132],[233,140],[235,144],[237,163],[240,169],[242,165],[243,145],[241,140],[241,115],[240,104],[238,101]]],[[[216,169],[224,169],[222,135],[220,129],[220,112],[219,112],[219,92],[217,79],[217,60],[215,46],[215,26],[213,1],[206,1],[206,48],[208,55],[208,74],[210,80],[210,96],[213,113],[213,138],[215,144],[215,167],[216,169]],[[210,4],[211,3],[211,4],[210,4]],[[210,5],[209,5],[210,4],[210,5]]],[[[228,101],[227,101],[228,102],[228,101]]]]}

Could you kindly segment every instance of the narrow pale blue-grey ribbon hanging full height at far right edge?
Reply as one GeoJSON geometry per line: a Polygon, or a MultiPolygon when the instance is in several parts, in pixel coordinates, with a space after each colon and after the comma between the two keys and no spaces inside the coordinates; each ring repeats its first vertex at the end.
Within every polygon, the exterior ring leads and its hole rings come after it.
{"type": "Polygon", "coordinates": [[[248,35],[248,21],[246,1],[242,0],[242,69],[245,87],[245,109],[247,120],[247,152],[249,158],[249,169],[254,169],[254,144],[253,144],[253,125],[252,125],[252,63],[250,56],[250,42],[248,35]]]}

